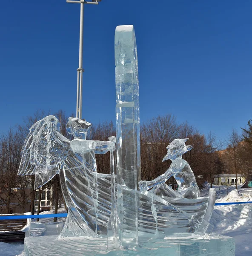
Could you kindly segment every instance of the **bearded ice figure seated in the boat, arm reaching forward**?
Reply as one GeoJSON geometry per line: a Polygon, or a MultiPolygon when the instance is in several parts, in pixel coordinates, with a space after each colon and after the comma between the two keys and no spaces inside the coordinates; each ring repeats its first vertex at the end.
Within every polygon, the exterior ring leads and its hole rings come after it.
{"type": "Polygon", "coordinates": [[[163,158],[165,160],[172,160],[169,169],[159,177],[151,181],[139,181],[140,190],[149,190],[153,188],[153,192],[159,191],[162,195],[167,194],[169,197],[182,198],[198,198],[200,190],[195,180],[195,176],[189,163],[182,159],[182,155],[192,149],[192,146],[186,146],[185,142],[188,139],[176,139],[170,143],[167,148],[167,154],[163,158]],[[167,189],[168,186],[161,186],[170,177],[174,177],[178,183],[178,193],[171,192],[172,189],[167,189]],[[161,192],[160,192],[161,190],[161,192]],[[165,191],[166,190],[166,191],[165,191]]]}

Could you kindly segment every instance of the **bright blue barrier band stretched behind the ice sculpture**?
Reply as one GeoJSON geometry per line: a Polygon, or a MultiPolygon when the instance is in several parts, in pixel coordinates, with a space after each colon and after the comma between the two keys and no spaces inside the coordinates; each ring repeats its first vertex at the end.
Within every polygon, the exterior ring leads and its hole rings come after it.
{"type": "MultiPolygon", "coordinates": [[[[234,205],[234,204],[252,204],[252,201],[249,202],[230,202],[230,203],[215,203],[215,206],[219,205],[234,205]]],[[[17,219],[27,219],[27,218],[60,218],[66,217],[67,213],[57,213],[57,214],[40,214],[40,215],[9,215],[1,216],[0,220],[17,220],[17,219]]]]}

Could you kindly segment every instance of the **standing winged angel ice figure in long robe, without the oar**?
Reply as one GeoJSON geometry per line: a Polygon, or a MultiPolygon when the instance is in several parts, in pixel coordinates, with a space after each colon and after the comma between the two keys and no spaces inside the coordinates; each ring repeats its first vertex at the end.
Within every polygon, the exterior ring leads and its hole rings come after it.
{"type": "Polygon", "coordinates": [[[111,209],[111,176],[103,174],[99,178],[95,154],[113,152],[115,143],[86,140],[90,126],[79,118],[69,118],[66,128],[74,137],[69,140],[60,133],[58,119],[46,116],[30,128],[22,149],[18,174],[35,175],[36,188],[60,175],[69,209],[63,236],[94,235],[106,232],[107,228],[108,217],[101,212],[111,209]],[[102,198],[103,205],[97,204],[101,188],[109,195],[102,198]]]}

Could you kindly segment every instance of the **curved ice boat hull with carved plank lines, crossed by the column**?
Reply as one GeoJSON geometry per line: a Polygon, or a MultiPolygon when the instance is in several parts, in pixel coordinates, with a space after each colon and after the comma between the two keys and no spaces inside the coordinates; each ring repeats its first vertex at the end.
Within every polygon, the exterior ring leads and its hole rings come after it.
{"type": "MultiPolygon", "coordinates": [[[[73,159],[74,158],[70,158],[73,159]]],[[[74,219],[81,229],[89,235],[106,235],[109,217],[111,215],[111,176],[89,172],[82,167],[75,167],[66,160],[63,172],[63,182],[67,189],[63,189],[66,201],[72,201],[74,210],[71,211],[74,219]],[[77,184],[77,185],[76,185],[77,184]],[[66,194],[67,193],[67,194],[66,194]]],[[[77,165],[81,166],[81,165],[77,165]]],[[[123,230],[132,231],[135,223],[134,210],[131,198],[135,198],[135,190],[123,186],[123,230]],[[132,214],[131,214],[132,212],[132,214]]],[[[214,201],[214,198],[212,198],[214,201]]],[[[138,205],[138,231],[144,233],[193,233],[198,229],[204,216],[212,212],[209,197],[186,198],[161,198],[152,192],[137,191],[138,205]]],[[[208,220],[206,220],[208,221],[208,220]]]]}

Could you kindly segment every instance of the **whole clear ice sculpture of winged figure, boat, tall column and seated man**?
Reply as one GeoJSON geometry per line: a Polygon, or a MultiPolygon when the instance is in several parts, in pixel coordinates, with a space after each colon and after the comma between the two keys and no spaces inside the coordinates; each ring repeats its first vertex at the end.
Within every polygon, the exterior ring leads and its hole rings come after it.
{"type": "MultiPolygon", "coordinates": [[[[160,246],[157,239],[164,236],[203,234],[209,227],[215,190],[210,189],[207,198],[199,196],[192,169],[182,159],[182,154],[191,149],[186,146],[186,139],[174,140],[167,146],[163,160],[171,159],[172,164],[165,174],[152,181],[140,181],[139,87],[133,26],[116,28],[115,65],[116,139],[86,140],[91,124],[69,118],[66,128],[74,138],[69,140],[60,134],[57,118],[47,116],[30,128],[23,146],[19,174],[35,175],[36,187],[59,174],[68,207],[59,238],[52,242],[43,240],[50,243],[50,251],[47,254],[43,251],[45,255],[72,243],[85,248],[84,255],[98,255],[104,244],[106,253],[119,248],[123,249],[121,253],[133,255],[132,251],[143,252],[148,246],[152,251],[160,246]],[[95,154],[107,152],[111,172],[97,173],[95,154]],[[165,183],[171,176],[179,184],[178,191],[165,183]],[[96,245],[89,250],[91,241],[96,245]],[[127,254],[128,250],[131,253],[127,254]]],[[[36,248],[28,245],[28,241],[34,243],[33,239],[26,241],[27,250],[36,248]]],[[[167,241],[162,240],[163,245],[171,247],[167,241]]]]}

